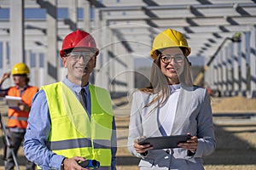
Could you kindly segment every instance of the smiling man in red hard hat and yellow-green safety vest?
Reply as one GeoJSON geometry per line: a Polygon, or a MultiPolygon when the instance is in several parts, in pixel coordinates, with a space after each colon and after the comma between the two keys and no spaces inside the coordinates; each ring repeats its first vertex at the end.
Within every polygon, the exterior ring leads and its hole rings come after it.
{"type": "Polygon", "coordinates": [[[85,31],[73,31],[64,38],[60,54],[67,76],[42,87],[33,99],[25,155],[42,169],[82,169],[79,161],[85,159],[100,161],[100,169],[115,169],[111,98],[89,83],[99,54],[96,42],[85,31]]]}

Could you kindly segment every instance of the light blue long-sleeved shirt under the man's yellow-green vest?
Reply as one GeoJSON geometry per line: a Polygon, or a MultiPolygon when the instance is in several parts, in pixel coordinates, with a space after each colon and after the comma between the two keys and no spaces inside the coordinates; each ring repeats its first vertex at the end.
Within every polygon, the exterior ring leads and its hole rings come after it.
{"type": "MultiPolygon", "coordinates": [[[[73,93],[79,99],[79,92],[81,87],[70,82],[67,77],[63,82],[70,88],[73,93]]],[[[85,87],[86,100],[87,100],[87,110],[90,116],[90,93],[89,85],[85,87]]],[[[33,161],[42,169],[60,169],[61,161],[64,156],[56,155],[51,150],[47,148],[47,141],[50,133],[50,117],[49,108],[47,104],[46,95],[44,90],[40,90],[38,94],[35,95],[32,101],[32,108],[28,118],[28,125],[26,129],[26,135],[24,140],[24,152],[28,160],[33,161]]],[[[113,133],[112,141],[113,146],[112,151],[112,169],[115,169],[116,164],[116,127],[113,118],[113,133]]],[[[65,129],[63,129],[65,130],[65,129]]],[[[60,132],[61,133],[61,132],[60,132]]]]}

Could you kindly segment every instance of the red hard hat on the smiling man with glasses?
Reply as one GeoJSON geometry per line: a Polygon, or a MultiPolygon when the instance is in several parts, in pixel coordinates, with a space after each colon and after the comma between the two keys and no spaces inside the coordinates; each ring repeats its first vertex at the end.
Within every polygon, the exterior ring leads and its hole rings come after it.
{"type": "Polygon", "coordinates": [[[61,58],[65,56],[66,50],[73,48],[92,48],[96,51],[96,55],[99,54],[94,38],[86,31],[73,31],[64,38],[60,51],[61,58]]]}

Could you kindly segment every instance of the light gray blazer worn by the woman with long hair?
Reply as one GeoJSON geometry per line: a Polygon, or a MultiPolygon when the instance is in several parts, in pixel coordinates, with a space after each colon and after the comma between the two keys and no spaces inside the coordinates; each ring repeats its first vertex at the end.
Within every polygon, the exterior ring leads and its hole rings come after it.
{"type": "Polygon", "coordinates": [[[215,150],[216,141],[212,123],[212,108],[210,98],[205,88],[181,88],[177,110],[172,127],[172,135],[191,133],[198,137],[198,147],[195,154],[183,148],[148,150],[147,155],[138,154],[134,150],[134,140],[141,136],[164,136],[160,125],[159,108],[155,105],[144,107],[154,95],[137,90],[133,95],[128,136],[128,150],[132,155],[142,158],[141,169],[184,169],[200,170],[202,156],[207,156],[215,150]],[[150,112],[151,111],[151,112],[150,112]]]}

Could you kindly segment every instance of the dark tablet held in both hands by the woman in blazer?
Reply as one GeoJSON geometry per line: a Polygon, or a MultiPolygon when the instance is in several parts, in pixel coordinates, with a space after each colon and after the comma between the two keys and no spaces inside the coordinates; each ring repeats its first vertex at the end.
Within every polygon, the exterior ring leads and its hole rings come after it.
{"type": "Polygon", "coordinates": [[[174,135],[174,136],[160,136],[139,139],[138,144],[151,144],[153,150],[179,148],[178,143],[187,142],[191,136],[189,134],[174,135]]]}

